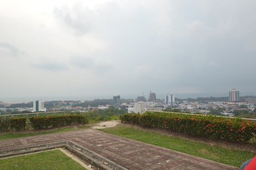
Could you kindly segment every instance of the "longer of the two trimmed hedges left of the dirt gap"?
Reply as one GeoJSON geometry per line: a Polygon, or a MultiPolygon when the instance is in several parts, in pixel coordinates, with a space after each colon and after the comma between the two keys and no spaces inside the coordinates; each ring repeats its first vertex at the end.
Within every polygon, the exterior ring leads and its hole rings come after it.
{"type": "Polygon", "coordinates": [[[51,127],[61,127],[64,125],[88,123],[87,117],[78,114],[45,117],[35,116],[29,118],[29,120],[31,121],[31,126],[36,130],[51,127]]]}

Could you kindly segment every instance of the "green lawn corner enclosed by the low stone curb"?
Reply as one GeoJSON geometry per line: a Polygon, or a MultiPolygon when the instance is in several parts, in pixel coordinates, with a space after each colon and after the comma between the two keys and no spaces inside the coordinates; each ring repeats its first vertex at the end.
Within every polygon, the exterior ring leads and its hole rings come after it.
{"type": "Polygon", "coordinates": [[[44,151],[31,155],[0,159],[0,169],[53,170],[85,169],[60,150],[44,151]]]}

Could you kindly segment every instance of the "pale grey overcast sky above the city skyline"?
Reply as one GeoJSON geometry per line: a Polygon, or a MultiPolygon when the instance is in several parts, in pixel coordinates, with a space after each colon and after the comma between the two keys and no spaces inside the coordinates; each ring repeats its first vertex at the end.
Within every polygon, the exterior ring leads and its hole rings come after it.
{"type": "Polygon", "coordinates": [[[0,96],[255,92],[256,1],[0,1],[0,96]]]}

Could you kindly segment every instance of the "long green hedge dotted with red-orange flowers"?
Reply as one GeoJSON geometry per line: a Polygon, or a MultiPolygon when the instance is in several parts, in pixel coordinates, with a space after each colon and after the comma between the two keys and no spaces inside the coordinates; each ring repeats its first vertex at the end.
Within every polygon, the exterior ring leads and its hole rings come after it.
{"type": "Polygon", "coordinates": [[[144,114],[124,114],[120,116],[120,120],[122,123],[165,128],[193,136],[225,141],[248,142],[256,134],[256,123],[239,118],[145,112],[144,114]]]}

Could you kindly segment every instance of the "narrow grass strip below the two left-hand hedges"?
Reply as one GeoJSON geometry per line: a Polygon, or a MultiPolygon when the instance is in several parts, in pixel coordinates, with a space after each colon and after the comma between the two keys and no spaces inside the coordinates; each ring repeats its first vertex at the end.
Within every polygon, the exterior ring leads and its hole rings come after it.
{"type": "Polygon", "coordinates": [[[32,135],[43,135],[43,134],[52,134],[52,133],[58,133],[58,132],[68,132],[68,131],[74,131],[74,130],[82,130],[84,128],[88,128],[86,125],[77,125],[77,127],[62,127],[62,128],[56,128],[52,130],[44,130],[40,132],[26,132],[26,133],[15,133],[10,132],[8,134],[0,134],[0,140],[3,139],[13,139],[17,137],[29,137],[32,135]]]}

